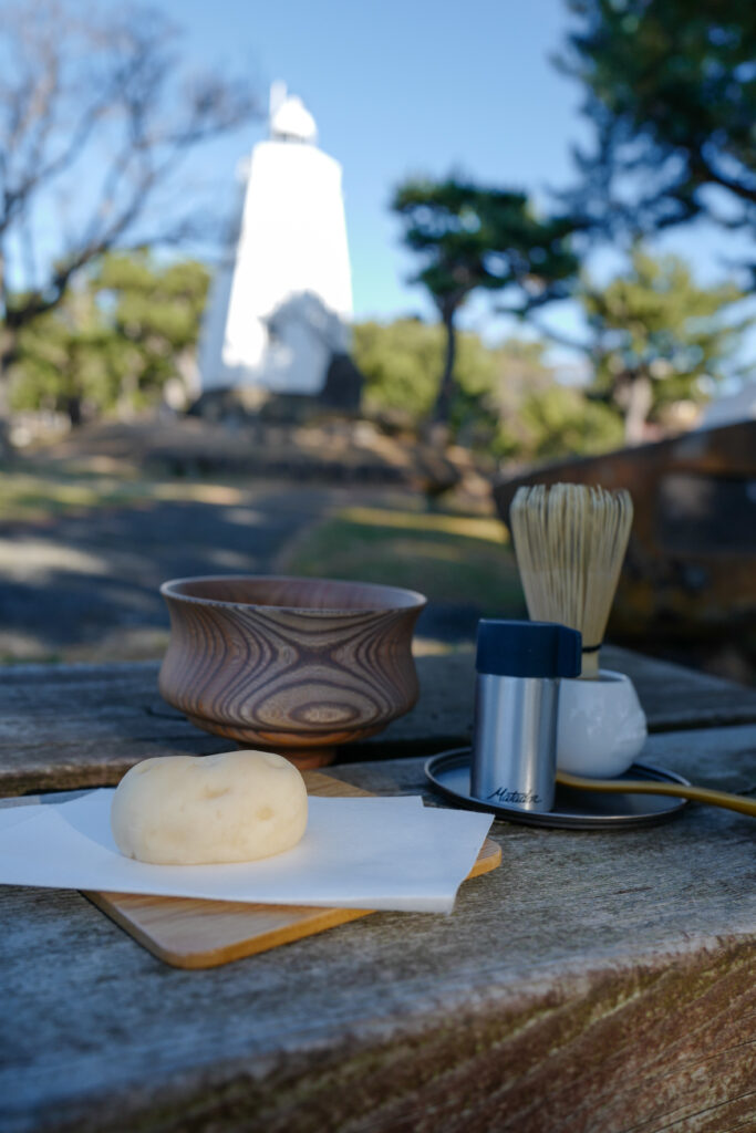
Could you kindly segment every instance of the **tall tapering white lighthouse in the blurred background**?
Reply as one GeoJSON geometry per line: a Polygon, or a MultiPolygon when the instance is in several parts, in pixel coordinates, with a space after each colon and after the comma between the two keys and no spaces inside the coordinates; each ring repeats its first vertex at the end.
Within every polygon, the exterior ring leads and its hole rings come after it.
{"type": "Polygon", "coordinates": [[[282,83],[269,138],[240,169],[241,199],[199,342],[202,391],[317,394],[349,349],[351,278],[341,167],[282,83]]]}

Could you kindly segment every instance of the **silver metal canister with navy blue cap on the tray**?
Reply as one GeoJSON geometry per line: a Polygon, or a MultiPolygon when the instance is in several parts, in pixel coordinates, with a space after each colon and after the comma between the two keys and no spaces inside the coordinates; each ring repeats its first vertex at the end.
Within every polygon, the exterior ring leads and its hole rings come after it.
{"type": "Polygon", "coordinates": [[[470,793],[517,810],[554,804],[559,680],[581,638],[553,622],[478,622],[470,793]]]}

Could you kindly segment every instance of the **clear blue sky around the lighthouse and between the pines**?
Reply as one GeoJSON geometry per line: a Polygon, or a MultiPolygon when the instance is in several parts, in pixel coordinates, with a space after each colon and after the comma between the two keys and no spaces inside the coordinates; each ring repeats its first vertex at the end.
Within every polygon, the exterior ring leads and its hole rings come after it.
{"type": "MultiPolygon", "coordinates": [[[[108,5],[100,0],[104,11],[108,5]]],[[[306,102],[321,146],[343,168],[358,320],[434,316],[423,289],[407,283],[414,264],[388,208],[405,177],[461,171],[525,189],[549,206],[550,189],[574,177],[571,145],[589,136],[580,88],[551,60],[569,28],[564,0],[152,0],[152,7],[176,25],[188,69],[244,76],[264,104],[270,83],[283,79],[306,102]]],[[[229,215],[236,167],[264,136],[261,121],[206,147],[187,162],[182,191],[210,191],[218,214],[229,215]]],[[[727,275],[723,257],[742,258],[741,245],[741,236],[706,225],[664,240],[706,281],[727,275]]],[[[617,266],[610,250],[591,264],[602,275],[617,266]]],[[[571,304],[552,306],[546,318],[562,332],[580,327],[571,304]]],[[[485,300],[473,303],[465,320],[489,338],[512,330],[492,320],[485,300]]],[[[755,357],[756,335],[750,346],[755,357]]]]}

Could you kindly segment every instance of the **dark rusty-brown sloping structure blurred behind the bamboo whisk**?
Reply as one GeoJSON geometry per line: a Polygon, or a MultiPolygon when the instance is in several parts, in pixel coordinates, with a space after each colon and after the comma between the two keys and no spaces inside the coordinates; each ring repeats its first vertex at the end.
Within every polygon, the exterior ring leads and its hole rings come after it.
{"type": "Polygon", "coordinates": [[[751,633],[756,617],[756,504],[746,491],[755,454],[756,421],[744,420],[504,475],[493,494],[507,522],[515,492],[534,479],[628,488],[636,517],[612,624],[646,648],[657,634],[683,642],[716,633],[724,644],[751,633]]]}

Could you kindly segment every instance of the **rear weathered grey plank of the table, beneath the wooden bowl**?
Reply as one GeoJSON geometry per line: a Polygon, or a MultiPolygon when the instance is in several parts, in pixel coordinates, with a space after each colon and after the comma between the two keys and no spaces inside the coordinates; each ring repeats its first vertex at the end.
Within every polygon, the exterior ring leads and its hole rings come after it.
{"type": "MultiPolygon", "coordinates": [[[[604,665],[630,674],[652,730],[756,721],[756,690],[608,648],[604,665]]],[[[469,741],[472,653],[421,657],[417,707],[385,732],[343,749],[340,761],[423,755],[469,741]]],[[[24,665],[0,683],[0,795],[117,783],[139,759],[222,751],[158,693],[158,665],[24,665]]]]}

